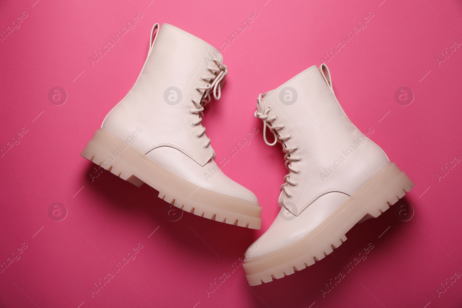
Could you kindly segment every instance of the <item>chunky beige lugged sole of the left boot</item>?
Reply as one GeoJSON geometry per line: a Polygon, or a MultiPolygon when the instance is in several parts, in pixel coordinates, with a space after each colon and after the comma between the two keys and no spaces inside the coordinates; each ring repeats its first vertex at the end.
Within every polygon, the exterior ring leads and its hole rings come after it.
{"type": "Polygon", "coordinates": [[[222,223],[261,229],[258,203],[198,187],[103,128],[96,131],[80,155],[137,187],[146,183],[159,192],[159,198],[184,211],[222,223]]]}

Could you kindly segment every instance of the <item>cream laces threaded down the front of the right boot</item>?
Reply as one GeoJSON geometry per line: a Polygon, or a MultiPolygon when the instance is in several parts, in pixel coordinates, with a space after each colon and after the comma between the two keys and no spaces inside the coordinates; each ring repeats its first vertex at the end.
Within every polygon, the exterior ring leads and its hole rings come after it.
{"type": "Polygon", "coordinates": [[[263,94],[260,94],[257,98],[257,110],[255,110],[254,115],[255,115],[255,118],[260,118],[261,121],[263,121],[263,140],[265,140],[265,143],[270,146],[275,145],[279,141],[282,145],[282,151],[286,153],[286,155],[284,155],[284,159],[286,160],[286,169],[289,170],[289,174],[284,176],[284,181],[286,182],[282,184],[280,187],[281,194],[279,195],[278,203],[280,206],[282,206],[284,194],[286,194],[289,199],[293,198],[293,193],[289,193],[287,186],[288,185],[292,185],[293,187],[298,186],[298,182],[292,181],[292,179],[290,178],[291,172],[296,173],[298,175],[302,172],[301,169],[295,169],[292,166],[292,162],[294,161],[301,162],[303,160],[303,157],[302,156],[292,157],[292,152],[297,151],[300,148],[300,146],[299,145],[295,145],[293,147],[287,146],[286,140],[292,139],[293,134],[282,136],[280,131],[286,129],[287,127],[286,124],[284,125],[272,125],[271,124],[274,120],[278,120],[279,116],[274,115],[270,117],[269,112],[271,111],[271,107],[267,107],[265,109],[261,101],[262,98],[263,98],[263,94]],[[274,134],[273,143],[269,143],[268,140],[266,139],[266,128],[267,127],[274,134]]]}

